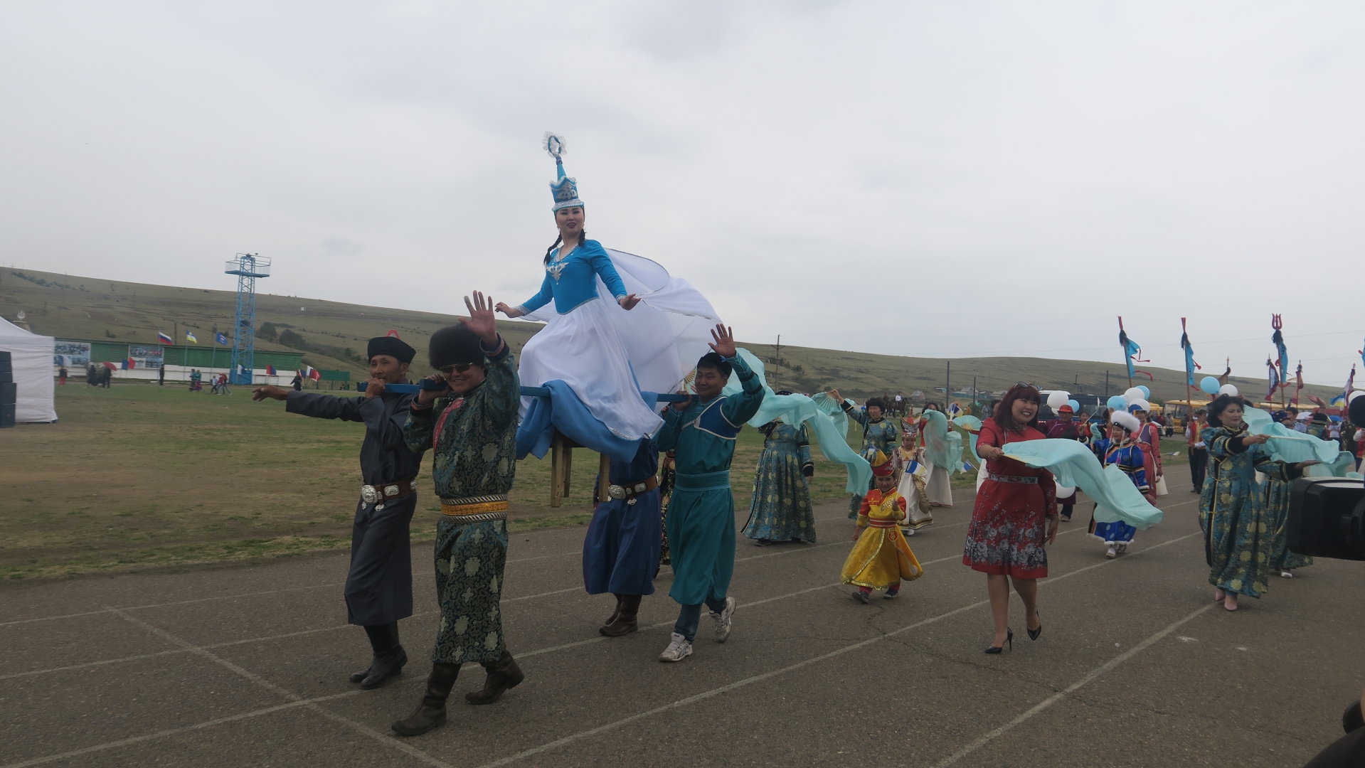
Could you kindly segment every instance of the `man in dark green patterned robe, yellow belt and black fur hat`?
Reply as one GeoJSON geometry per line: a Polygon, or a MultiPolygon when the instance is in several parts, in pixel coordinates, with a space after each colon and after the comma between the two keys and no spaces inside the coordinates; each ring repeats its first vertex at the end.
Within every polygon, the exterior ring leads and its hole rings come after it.
{"type": "Polygon", "coordinates": [[[470,704],[491,704],[524,678],[502,637],[502,567],[506,563],[508,491],[516,473],[520,386],[512,351],[497,333],[493,304],[474,292],[470,319],[431,336],[431,367],[444,392],[412,401],[408,449],[433,449],[431,476],[441,498],[435,535],[435,588],[441,607],[431,674],[418,709],[393,723],[418,735],[445,723],[445,700],[460,664],[487,670],[470,704]]]}

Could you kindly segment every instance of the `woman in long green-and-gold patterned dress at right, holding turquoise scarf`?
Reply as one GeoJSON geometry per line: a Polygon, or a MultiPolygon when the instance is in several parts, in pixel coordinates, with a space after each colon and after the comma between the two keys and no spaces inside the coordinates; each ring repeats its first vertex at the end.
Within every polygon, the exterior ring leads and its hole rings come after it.
{"type": "Polygon", "coordinates": [[[1260,597],[1269,573],[1271,540],[1256,472],[1269,464],[1265,435],[1253,435],[1242,420],[1246,401],[1220,394],[1208,407],[1208,476],[1200,494],[1198,521],[1213,599],[1237,610],[1238,595],[1260,597]]]}

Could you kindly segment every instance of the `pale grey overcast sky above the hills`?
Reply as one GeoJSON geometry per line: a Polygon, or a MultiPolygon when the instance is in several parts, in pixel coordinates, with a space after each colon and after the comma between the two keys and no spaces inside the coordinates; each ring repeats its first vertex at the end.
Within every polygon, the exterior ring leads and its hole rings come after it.
{"type": "Polygon", "coordinates": [[[0,261],[463,311],[554,240],[740,338],[1339,385],[1365,337],[1360,3],[5,3],[0,261]]]}

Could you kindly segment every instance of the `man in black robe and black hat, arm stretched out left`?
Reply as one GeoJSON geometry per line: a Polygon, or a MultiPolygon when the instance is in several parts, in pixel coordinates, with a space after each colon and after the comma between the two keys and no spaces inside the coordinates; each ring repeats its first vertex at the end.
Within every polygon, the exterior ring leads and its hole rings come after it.
{"type": "Polygon", "coordinates": [[[347,621],[364,627],[374,659],[351,675],[370,689],[396,677],[408,655],[399,644],[399,619],[412,615],[412,558],[408,524],[416,510],[414,480],[422,456],[408,450],[403,424],[412,394],[385,392],[386,383],[407,381],[415,349],[396,336],[370,340],[370,381],[360,397],[336,397],[259,386],[251,400],[274,398],[289,413],[364,423],[360,443],[360,501],[351,527],[351,573],[345,580],[347,621]]]}

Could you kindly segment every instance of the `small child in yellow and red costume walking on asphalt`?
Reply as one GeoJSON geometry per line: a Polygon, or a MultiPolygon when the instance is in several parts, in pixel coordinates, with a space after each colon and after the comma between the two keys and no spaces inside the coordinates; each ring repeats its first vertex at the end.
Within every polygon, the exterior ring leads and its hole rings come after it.
{"type": "Polygon", "coordinates": [[[905,543],[900,521],[905,520],[905,499],[895,491],[895,469],[882,452],[872,458],[872,477],[876,488],[867,492],[859,507],[856,544],[844,561],[839,574],[844,584],[857,585],[853,599],[868,603],[872,589],[886,589],[883,599],[893,599],[901,591],[901,581],[924,576],[920,561],[905,543]]]}

